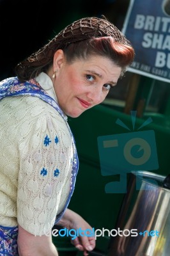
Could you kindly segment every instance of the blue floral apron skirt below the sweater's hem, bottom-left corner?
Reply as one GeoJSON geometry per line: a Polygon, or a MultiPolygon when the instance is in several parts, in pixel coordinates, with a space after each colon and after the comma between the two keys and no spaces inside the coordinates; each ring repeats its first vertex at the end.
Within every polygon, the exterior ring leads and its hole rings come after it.
{"type": "Polygon", "coordinates": [[[0,226],[0,256],[18,256],[18,227],[0,226]]]}

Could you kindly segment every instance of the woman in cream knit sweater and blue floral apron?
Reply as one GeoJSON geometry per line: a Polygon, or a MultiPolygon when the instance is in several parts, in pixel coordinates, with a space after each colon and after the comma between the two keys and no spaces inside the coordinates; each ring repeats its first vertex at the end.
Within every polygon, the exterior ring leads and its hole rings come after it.
{"type": "MultiPolygon", "coordinates": [[[[134,59],[106,19],[77,20],[1,82],[0,255],[53,256],[54,223],[91,229],[68,209],[79,161],[67,116],[100,104],[134,59]]],[[[95,238],[73,240],[88,255],[95,238]]]]}

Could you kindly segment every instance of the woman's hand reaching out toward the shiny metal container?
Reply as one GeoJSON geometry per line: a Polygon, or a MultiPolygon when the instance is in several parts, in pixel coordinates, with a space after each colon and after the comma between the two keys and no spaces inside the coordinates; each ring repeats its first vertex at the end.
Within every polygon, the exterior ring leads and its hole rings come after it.
{"type": "MultiPolygon", "coordinates": [[[[88,255],[87,251],[91,251],[95,248],[95,237],[92,235],[92,227],[76,212],[66,209],[63,218],[59,220],[57,225],[74,230],[91,230],[87,232],[89,236],[83,236],[84,232],[81,232],[82,236],[72,239],[72,244],[79,250],[84,251],[84,256],[88,255]]],[[[74,237],[73,237],[74,238],[74,237]]]]}

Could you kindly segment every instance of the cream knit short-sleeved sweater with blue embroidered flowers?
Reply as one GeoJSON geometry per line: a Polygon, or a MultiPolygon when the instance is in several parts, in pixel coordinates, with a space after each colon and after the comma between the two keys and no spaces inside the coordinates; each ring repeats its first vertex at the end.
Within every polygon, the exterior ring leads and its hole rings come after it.
{"type": "Polygon", "coordinates": [[[46,234],[65,207],[72,137],[49,104],[31,96],[0,104],[0,225],[46,234]]]}

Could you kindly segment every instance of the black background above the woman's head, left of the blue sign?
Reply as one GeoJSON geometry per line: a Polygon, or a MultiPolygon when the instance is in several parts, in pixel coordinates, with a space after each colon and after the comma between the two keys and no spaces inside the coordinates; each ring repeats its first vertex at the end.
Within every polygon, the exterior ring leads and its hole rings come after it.
{"type": "Polygon", "coordinates": [[[0,80],[74,20],[105,15],[119,29],[129,0],[0,0],[0,80]]]}

